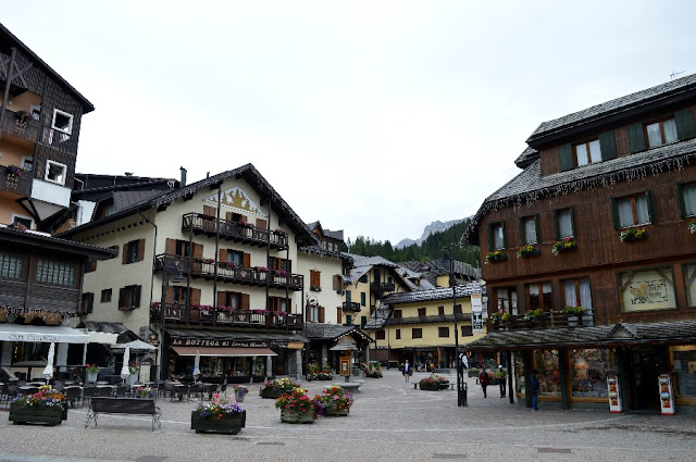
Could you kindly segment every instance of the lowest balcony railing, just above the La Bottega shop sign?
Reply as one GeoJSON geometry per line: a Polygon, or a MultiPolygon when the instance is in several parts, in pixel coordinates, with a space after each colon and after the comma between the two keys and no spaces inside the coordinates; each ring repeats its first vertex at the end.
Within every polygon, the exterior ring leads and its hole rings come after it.
{"type": "MultiPolygon", "coordinates": [[[[150,321],[162,322],[160,303],[150,307],[150,321]]],[[[231,311],[228,308],[186,307],[176,303],[164,305],[164,324],[190,324],[207,326],[257,327],[298,330],[302,328],[300,314],[265,310],[231,311]]]]}

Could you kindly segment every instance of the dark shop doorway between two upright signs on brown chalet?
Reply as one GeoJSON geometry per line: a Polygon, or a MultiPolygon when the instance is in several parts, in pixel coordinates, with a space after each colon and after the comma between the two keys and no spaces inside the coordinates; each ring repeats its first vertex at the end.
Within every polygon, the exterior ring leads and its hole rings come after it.
{"type": "Polygon", "coordinates": [[[667,372],[662,348],[629,350],[627,385],[631,411],[660,411],[657,377],[667,372]]]}

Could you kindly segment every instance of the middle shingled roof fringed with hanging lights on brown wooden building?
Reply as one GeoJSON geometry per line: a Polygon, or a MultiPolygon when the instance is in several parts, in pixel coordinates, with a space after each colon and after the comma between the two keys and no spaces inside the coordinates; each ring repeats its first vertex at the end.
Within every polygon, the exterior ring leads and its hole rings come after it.
{"type": "Polygon", "coordinates": [[[695,158],[696,138],[546,176],[542,176],[540,161],[537,160],[486,198],[464,230],[462,240],[478,242],[478,224],[489,211],[510,205],[520,208],[542,198],[610,187],[617,182],[647,175],[657,176],[663,171],[681,170],[684,163],[695,158]]]}

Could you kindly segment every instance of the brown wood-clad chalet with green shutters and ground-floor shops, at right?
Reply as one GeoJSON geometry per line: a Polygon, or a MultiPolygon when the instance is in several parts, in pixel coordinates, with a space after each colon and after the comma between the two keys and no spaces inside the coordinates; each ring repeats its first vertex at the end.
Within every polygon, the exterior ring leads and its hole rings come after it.
{"type": "Polygon", "coordinates": [[[691,75],[542,123],[467,229],[489,316],[469,347],[513,353],[527,405],[534,369],[563,409],[696,404],[695,109],[691,75]]]}

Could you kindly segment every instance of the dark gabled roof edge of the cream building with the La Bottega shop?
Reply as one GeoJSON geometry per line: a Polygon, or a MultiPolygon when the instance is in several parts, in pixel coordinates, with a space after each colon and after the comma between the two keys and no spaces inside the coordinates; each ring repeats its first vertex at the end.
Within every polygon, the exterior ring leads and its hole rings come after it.
{"type": "Polygon", "coordinates": [[[146,199],[144,201],[133,203],[132,205],[123,209],[116,213],[113,213],[101,220],[86,223],[82,226],[77,226],[73,229],[66,230],[61,236],[73,236],[77,233],[91,229],[103,224],[114,222],[116,220],[130,216],[135,213],[149,210],[165,210],[175,200],[191,197],[196,192],[206,189],[214,188],[228,178],[238,177],[244,178],[252,188],[254,188],[262,197],[272,198],[273,210],[281,217],[285,218],[288,226],[293,228],[297,237],[300,237],[300,242],[306,245],[315,245],[318,242],[316,236],[304,224],[304,222],[295,213],[290,205],[278,195],[275,189],[266,182],[266,179],[259,173],[259,171],[252,164],[246,164],[235,170],[219,173],[217,175],[209,176],[200,182],[192,183],[182,188],[163,191],[157,196],[146,199]]]}

